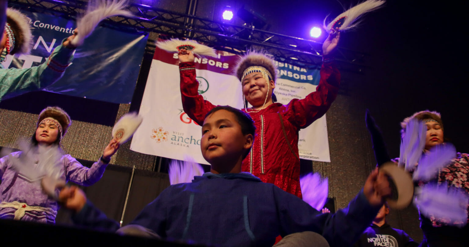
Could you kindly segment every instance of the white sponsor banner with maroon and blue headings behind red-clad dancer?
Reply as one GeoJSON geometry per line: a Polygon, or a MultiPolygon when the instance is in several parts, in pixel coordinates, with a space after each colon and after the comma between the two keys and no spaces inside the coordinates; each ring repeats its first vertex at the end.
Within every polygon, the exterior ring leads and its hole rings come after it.
{"type": "MultiPolygon", "coordinates": [[[[218,58],[196,58],[199,94],[214,105],[242,108],[241,83],[232,75],[237,56],[219,52],[218,58]]],[[[139,114],[144,120],[132,139],[130,149],[183,160],[187,156],[207,164],[200,151],[201,127],[182,109],[177,54],[156,48],[139,114]]],[[[300,68],[279,62],[280,78],[274,93],[287,104],[316,90],[318,68],[300,68]],[[282,66],[280,66],[282,65],[282,66]],[[282,71],[283,70],[283,71],[282,71]]],[[[325,116],[300,131],[300,157],[330,162],[325,116]]]]}

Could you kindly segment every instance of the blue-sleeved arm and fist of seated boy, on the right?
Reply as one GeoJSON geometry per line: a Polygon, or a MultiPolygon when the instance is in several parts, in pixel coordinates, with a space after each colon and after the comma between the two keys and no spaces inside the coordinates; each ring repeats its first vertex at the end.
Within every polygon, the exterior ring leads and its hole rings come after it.
{"type": "Polygon", "coordinates": [[[355,199],[347,208],[335,214],[321,214],[306,202],[280,189],[274,191],[279,218],[280,234],[312,231],[320,233],[331,247],[352,246],[371,224],[391,189],[384,175],[374,170],[355,199]]]}

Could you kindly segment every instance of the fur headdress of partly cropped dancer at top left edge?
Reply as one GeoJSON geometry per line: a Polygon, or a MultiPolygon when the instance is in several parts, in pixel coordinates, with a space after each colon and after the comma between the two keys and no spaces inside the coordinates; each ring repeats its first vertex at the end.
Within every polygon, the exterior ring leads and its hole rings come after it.
{"type": "MultiPolygon", "coordinates": [[[[7,9],[7,24],[13,31],[15,46],[10,54],[29,54],[32,46],[31,19],[20,11],[7,9]]],[[[7,27],[5,27],[7,28],[7,27]]]]}

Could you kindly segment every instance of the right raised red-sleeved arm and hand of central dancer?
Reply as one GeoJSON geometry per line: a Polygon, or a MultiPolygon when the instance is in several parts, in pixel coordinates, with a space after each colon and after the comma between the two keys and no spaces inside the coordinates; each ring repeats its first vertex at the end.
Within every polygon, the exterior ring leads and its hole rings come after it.
{"type": "Polygon", "coordinates": [[[287,119],[298,128],[306,128],[324,116],[337,97],[340,85],[340,72],[333,62],[331,53],[339,42],[340,31],[330,32],[323,44],[323,64],[319,85],[315,92],[304,99],[291,100],[287,105],[287,119]]]}

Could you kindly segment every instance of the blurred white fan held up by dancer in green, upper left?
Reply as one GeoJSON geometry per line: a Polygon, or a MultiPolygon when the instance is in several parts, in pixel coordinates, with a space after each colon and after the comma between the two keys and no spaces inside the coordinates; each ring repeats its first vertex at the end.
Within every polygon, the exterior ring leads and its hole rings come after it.
{"type": "Polygon", "coordinates": [[[82,45],[84,39],[94,31],[98,23],[108,17],[115,15],[132,16],[132,13],[124,10],[125,7],[127,7],[126,0],[91,0],[88,2],[85,15],[76,22],[78,34],[71,41],[72,45],[82,45]]]}

